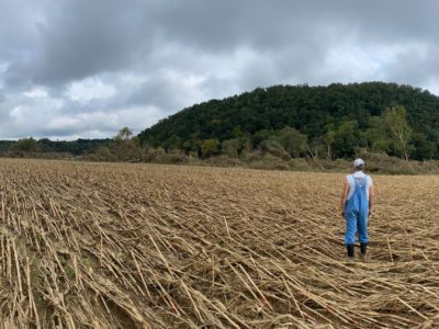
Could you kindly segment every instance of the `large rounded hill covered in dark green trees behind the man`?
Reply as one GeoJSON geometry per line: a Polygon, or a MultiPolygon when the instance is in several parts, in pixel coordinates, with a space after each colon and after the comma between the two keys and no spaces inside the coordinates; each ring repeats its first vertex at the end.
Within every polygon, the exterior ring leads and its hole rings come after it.
{"type": "Polygon", "coordinates": [[[383,82],[258,88],[184,109],[138,139],[202,157],[261,149],[286,157],[334,159],[370,150],[438,159],[439,98],[383,82]]]}

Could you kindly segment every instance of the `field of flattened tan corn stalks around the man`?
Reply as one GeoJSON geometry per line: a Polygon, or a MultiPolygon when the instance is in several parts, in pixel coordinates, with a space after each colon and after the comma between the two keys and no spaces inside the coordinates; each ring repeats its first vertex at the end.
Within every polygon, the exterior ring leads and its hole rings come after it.
{"type": "Polygon", "coordinates": [[[439,178],[374,177],[353,264],[342,179],[0,160],[0,327],[439,326],[439,178]]]}

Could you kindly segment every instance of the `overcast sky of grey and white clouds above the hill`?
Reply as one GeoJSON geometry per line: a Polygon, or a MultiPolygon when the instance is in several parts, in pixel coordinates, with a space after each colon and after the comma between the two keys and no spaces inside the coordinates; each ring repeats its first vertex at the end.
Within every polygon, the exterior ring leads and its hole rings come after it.
{"type": "Polygon", "coordinates": [[[0,0],[0,139],[111,137],[272,84],[439,94],[436,0],[0,0]]]}

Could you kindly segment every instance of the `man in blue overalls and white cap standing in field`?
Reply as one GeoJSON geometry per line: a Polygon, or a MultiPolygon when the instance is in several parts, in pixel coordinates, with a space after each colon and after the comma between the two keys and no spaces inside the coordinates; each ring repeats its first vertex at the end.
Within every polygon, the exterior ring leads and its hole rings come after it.
{"type": "Polygon", "coordinates": [[[353,260],[356,232],[361,247],[361,258],[365,259],[369,236],[368,220],[372,215],[373,206],[373,181],[364,174],[364,161],[353,161],[354,172],[346,177],[344,192],[341,194],[340,211],[346,220],[345,246],[348,259],[353,260]]]}

